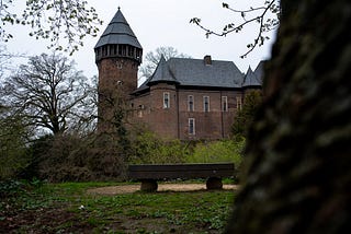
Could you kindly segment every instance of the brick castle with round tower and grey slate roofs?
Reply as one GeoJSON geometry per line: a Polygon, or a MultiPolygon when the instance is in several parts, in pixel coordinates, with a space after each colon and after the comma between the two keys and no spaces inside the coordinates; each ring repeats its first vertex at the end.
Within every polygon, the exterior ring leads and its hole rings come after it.
{"type": "Polygon", "coordinates": [[[98,130],[111,131],[127,110],[126,122],[144,122],[159,136],[181,140],[222,139],[230,133],[245,94],[261,89],[263,63],[244,74],[233,61],[162,57],[139,87],[143,47],[116,12],[94,47],[99,69],[98,130]]]}

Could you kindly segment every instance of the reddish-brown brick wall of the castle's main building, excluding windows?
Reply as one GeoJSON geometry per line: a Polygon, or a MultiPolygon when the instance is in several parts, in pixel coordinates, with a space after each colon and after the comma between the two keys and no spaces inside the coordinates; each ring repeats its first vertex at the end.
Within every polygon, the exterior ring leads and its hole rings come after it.
{"type": "Polygon", "coordinates": [[[134,112],[134,121],[146,122],[149,128],[166,138],[222,139],[229,137],[237,112],[236,97],[241,92],[176,90],[176,86],[157,84],[150,93],[134,98],[133,105],[144,109],[134,112]],[[163,108],[163,93],[170,93],[170,108],[163,108]],[[188,96],[194,97],[194,110],[188,110],[188,96]],[[210,112],[204,113],[203,97],[210,96],[210,112]],[[227,96],[228,110],[222,112],[222,96],[227,96]],[[195,134],[189,134],[189,118],[195,119],[195,134]]]}

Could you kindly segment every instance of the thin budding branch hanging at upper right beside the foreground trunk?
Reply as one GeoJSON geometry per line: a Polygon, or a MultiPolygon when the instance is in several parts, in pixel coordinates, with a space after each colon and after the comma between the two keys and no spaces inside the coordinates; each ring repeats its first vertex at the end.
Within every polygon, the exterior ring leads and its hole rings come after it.
{"type": "Polygon", "coordinates": [[[239,33],[249,24],[257,23],[257,36],[252,43],[247,44],[248,50],[241,55],[245,58],[257,46],[262,46],[264,40],[270,39],[267,33],[278,28],[280,23],[281,7],[280,0],[262,0],[262,5],[250,7],[246,10],[238,10],[231,8],[228,3],[223,2],[222,7],[231,11],[234,14],[238,14],[241,17],[239,22],[230,22],[224,26],[222,31],[212,31],[201,23],[200,17],[193,17],[190,23],[194,23],[205,31],[206,37],[210,35],[226,36],[229,33],[239,33]]]}

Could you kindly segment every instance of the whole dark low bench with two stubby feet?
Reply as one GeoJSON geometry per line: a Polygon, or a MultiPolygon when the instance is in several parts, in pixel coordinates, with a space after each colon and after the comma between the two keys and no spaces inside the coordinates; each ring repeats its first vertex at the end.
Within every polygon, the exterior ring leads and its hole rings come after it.
{"type": "Polygon", "coordinates": [[[234,163],[129,165],[128,177],[141,182],[141,191],[156,191],[157,180],[206,178],[207,189],[222,189],[222,178],[234,176],[234,163]]]}

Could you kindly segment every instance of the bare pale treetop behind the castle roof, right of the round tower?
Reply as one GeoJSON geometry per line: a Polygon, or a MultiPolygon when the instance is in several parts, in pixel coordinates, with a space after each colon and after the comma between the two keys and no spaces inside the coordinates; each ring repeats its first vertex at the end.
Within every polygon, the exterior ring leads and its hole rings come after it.
{"type": "Polygon", "coordinates": [[[158,62],[161,59],[161,56],[163,56],[166,60],[168,60],[172,57],[191,58],[191,56],[188,56],[182,52],[178,52],[178,50],[171,46],[158,47],[155,51],[149,51],[148,54],[146,54],[145,59],[144,59],[144,63],[140,67],[141,78],[151,77],[158,62]]]}

